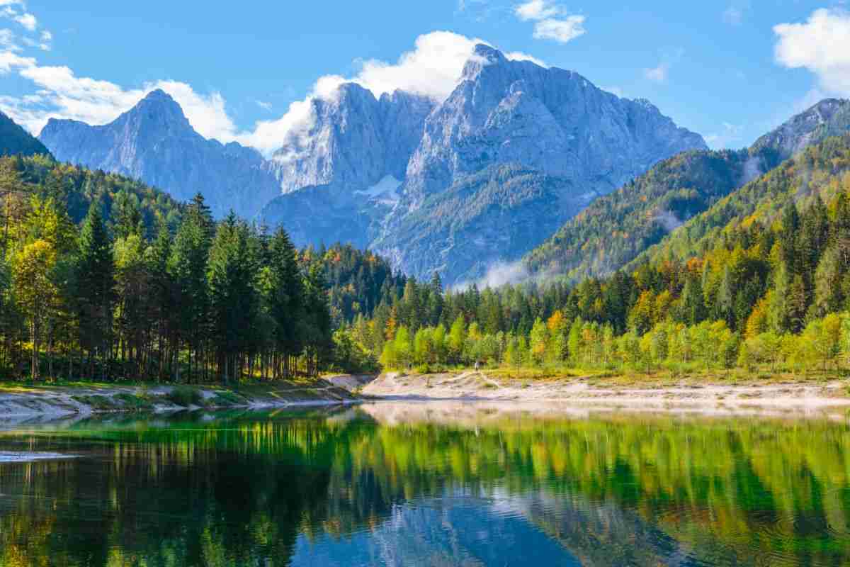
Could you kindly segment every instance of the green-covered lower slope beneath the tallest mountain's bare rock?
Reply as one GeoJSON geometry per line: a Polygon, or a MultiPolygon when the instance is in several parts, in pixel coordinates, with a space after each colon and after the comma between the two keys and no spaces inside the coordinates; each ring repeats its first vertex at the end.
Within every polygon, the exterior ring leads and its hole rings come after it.
{"type": "Polygon", "coordinates": [[[373,243],[406,273],[438,271],[447,284],[474,281],[509,263],[580,208],[568,179],[518,165],[490,166],[420,207],[373,243]]]}

